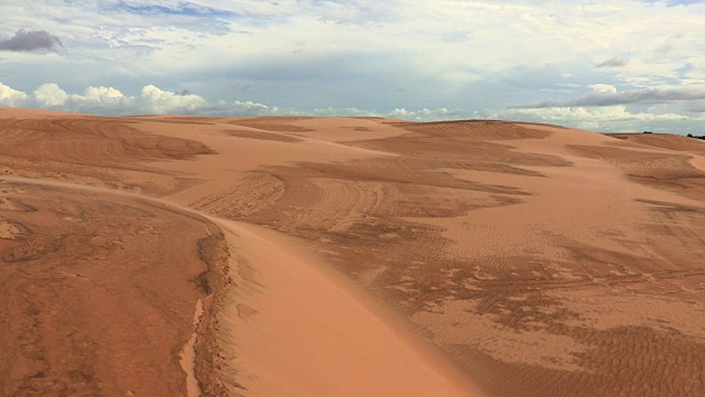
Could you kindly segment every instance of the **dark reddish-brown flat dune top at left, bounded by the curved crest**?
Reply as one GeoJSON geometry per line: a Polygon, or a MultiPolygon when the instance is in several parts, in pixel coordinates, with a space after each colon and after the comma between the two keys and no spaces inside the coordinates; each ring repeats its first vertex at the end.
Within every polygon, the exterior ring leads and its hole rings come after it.
{"type": "Polygon", "coordinates": [[[178,352],[208,288],[198,246],[217,226],[97,191],[0,194],[14,230],[0,234],[0,395],[185,395],[178,352]]]}

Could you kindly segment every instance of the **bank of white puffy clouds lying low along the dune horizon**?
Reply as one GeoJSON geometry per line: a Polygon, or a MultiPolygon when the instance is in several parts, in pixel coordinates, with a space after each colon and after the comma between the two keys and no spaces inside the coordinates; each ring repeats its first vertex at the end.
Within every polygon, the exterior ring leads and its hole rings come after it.
{"type": "MultiPolygon", "coordinates": [[[[614,94],[609,85],[595,85],[597,93],[614,94]]],[[[704,101],[705,103],[705,101],[704,101]]],[[[463,108],[397,107],[389,110],[367,110],[356,107],[279,108],[252,100],[207,100],[188,92],[169,92],[154,85],[142,87],[138,95],[124,95],[117,88],[89,86],[83,94],[69,94],[55,83],[46,83],[24,93],[0,83],[0,107],[61,109],[97,115],[206,115],[245,116],[321,116],[321,117],[388,117],[411,121],[503,119],[549,122],[603,131],[665,130],[669,122],[698,125],[705,115],[684,116],[676,112],[630,111],[626,106],[555,106],[545,108],[509,108],[468,110],[463,108]]],[[[682,133],[696,131],[687,129],[682,133]]]]}

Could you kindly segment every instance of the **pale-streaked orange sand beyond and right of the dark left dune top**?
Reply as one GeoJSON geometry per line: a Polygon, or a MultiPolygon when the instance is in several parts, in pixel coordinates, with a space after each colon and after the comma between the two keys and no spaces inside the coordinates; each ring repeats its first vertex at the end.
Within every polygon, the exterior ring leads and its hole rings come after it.
{"type": "Polygon", "coordinates": [[[11,110],[0,130],[1,172],[227,219],[200,249],[204,395],[705,394],[699,141],[11,110]]]}

